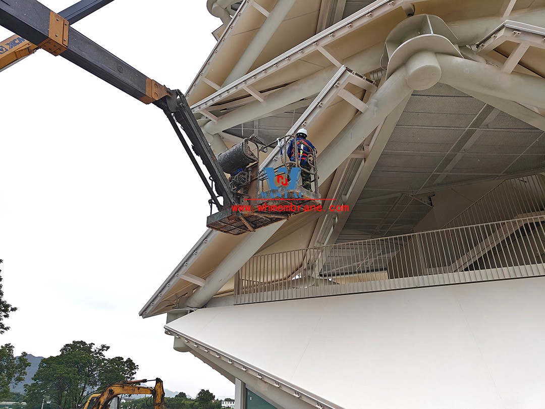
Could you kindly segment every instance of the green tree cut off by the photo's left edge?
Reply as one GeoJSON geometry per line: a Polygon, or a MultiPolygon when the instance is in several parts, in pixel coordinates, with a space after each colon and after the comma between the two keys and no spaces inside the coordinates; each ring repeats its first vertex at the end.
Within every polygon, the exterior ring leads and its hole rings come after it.
{"type": "MultiPolygon", "coordinates": [[[[2,262],[3,260],[0,260],[0,263],[2,262]]],[[[2,282],[2,276],[0,276],[0,282],[2,282]]],[[[3,320],[9,317],[10,312],[14,311],[17,311],[17,308],[4,300],[4,292],[2,284],[0,284],[0,334],[9,329],[3,320]]],[[[10,396],[9,385],[11,383],[17,384],[25,379],[27,366],[30,366],[26,358],[27,353],[23,352],[21,356],[16,358],[13,349],[11,344],[0,346],[0,401],[6,400],[10,396]]]]}

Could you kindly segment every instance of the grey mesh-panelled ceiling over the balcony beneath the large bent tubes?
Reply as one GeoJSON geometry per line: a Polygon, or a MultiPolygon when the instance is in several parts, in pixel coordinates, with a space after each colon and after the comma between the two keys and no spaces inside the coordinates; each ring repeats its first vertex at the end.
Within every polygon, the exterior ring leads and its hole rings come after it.
{"type": "Polygon", "coordinates": [[[431,209],[411,196],[543,169],[540,129],[447,85],[417,91],[337,242],[411,232],[431,209]]]}

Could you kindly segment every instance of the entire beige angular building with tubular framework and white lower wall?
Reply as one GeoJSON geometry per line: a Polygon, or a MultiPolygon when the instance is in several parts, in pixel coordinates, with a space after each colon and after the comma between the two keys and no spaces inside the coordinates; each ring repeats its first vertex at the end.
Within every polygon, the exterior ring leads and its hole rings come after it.
{"type": "Polygon", "coordinates": [[[326,205],[205,231],[140,314],[239,408],[543,406],[545,1],[207,6],[210,146],[306,128],[326,205]]]}

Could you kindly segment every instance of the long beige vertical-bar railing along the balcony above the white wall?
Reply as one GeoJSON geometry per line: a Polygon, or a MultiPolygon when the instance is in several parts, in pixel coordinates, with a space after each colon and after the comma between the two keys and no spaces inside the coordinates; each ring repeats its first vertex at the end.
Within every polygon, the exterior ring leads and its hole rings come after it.
{"type": "Polygon", "coordinates": [[[252,257],[235,303],[545,275],[545,212],[252,257]]]}

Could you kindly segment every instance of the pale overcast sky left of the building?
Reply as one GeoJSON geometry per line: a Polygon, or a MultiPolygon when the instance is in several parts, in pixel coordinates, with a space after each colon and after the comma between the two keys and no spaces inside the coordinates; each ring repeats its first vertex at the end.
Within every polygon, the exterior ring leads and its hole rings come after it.
{"type": "MultiPolygon", "coordinates": [[[[205,0],[116,0],[74,28],[185,92],[220,23],[205,0]]],[[[138,378],[233,397],[226,378],[172,349],[166,316],[138,316],[209,211],[164,113],[41,50],[0,80],[0,268],[4,298],[19,309],[0,343],[43,357],[74,340],[106,344],[108,357],[140,366],[138,378]]]]}

